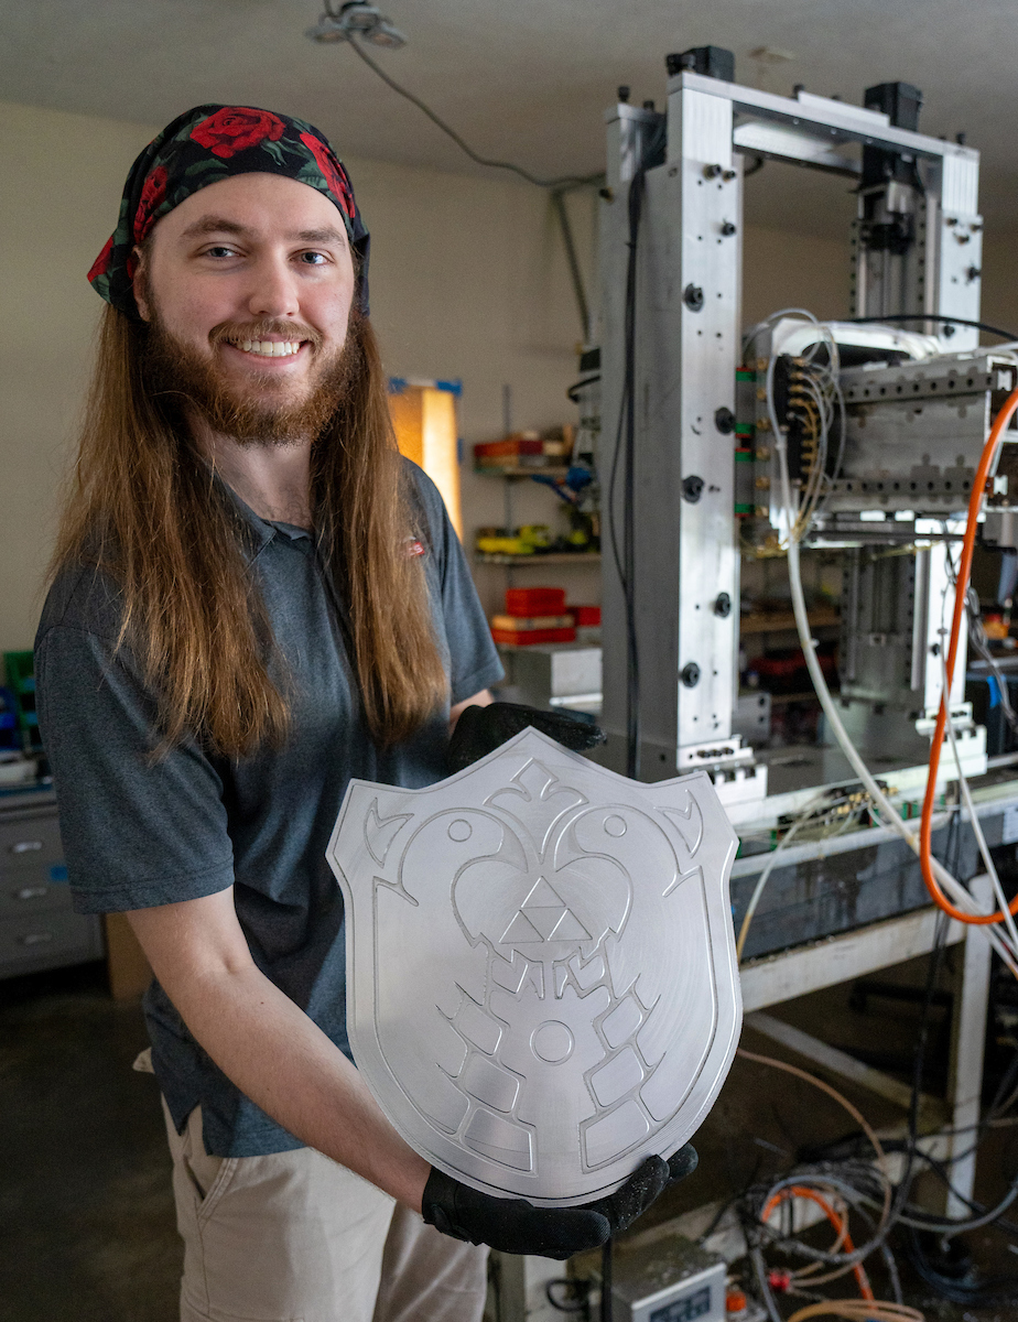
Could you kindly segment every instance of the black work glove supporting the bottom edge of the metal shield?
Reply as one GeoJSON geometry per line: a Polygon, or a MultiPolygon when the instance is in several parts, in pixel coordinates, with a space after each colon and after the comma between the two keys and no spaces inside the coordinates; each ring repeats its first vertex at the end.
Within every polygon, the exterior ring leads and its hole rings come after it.
{"type": "Polygon", "coordinates": [[[534,1207],[524,1198],[492,1198],[432,1166],[422,1211],[428,1225],[453,1239],[489,1244],[502,1253],[562,1260],[620,1235],[666,1185],[689,1175],[695,1165],[690,1144],[669,1161],[648,1157],[621,1188],[582,1207],[534,1207]]]}

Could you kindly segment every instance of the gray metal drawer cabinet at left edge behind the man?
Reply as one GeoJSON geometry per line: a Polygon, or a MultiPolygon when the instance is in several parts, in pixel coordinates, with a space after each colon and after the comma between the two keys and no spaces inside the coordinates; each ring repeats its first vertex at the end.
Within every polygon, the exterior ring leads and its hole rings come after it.
{"type": "Polygon", "coordinates": [[[0,978],[103,957],[98,917],[74,914],[52,791],[0,798],[0,978]]]}

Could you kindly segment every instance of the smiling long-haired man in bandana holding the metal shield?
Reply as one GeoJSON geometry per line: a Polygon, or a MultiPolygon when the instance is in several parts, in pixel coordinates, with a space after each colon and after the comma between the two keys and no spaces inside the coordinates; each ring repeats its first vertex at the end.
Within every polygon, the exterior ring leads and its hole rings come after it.
{"type": "Polygon", "coordinates": [[[110,307],[40,718],[75,904],[127,912],[156,974],[181,1318],[476,1319],[475,1244],[566,1256],[669,1171],[596,1208],[485,1198],[349,1059],[344,791],[440,779],[501,677],[442,500],[393,443],[349,178],[309,124],[197,107],[132,167],[90,279],[110,307]]]}

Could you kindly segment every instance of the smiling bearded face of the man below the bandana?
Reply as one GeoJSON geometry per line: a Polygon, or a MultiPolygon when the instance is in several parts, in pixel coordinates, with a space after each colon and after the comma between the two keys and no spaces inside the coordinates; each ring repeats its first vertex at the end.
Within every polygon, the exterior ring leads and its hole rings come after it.
{"type": "Polygon", "coordinates": [[[276,175],[193,193],[155,226],[135,295],[159,387],[215,430],[278,444],[324,424],[349,366],[354,271],[321,193],[276,175]]]}

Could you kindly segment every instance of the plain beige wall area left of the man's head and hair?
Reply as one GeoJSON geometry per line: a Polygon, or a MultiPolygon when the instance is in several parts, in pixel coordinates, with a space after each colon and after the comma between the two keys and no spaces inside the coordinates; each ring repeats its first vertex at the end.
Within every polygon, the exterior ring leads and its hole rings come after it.
{"type": "Polygon", "coordinates": [[[0,104],[0,650],[32,646],[99,303],[83,276],[151,136],[0,104]]]}

